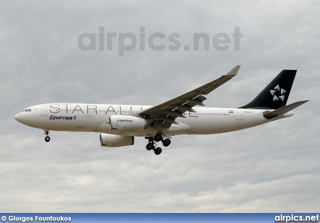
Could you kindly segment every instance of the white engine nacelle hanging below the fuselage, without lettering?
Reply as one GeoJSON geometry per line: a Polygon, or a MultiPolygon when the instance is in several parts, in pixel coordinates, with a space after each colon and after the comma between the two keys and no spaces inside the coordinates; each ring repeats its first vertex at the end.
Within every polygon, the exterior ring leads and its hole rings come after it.
{"type": "Polygon", "coordinates": [[[100,133],[100,145],[105,147],[119,147],[133,145],[133,136],[111,135],[100,133]]]}

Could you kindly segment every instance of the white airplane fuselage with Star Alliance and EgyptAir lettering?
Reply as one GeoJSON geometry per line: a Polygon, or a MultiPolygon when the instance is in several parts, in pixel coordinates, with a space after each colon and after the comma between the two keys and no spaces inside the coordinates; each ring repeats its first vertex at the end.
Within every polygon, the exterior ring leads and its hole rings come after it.
{"type": "MultiPolygon", "coordinates": [[[[56,103],[28,107],[14,118],[31,127],[52,131],[100,132],[125,136],[150,137],[157,133],[153,126],[136,131],[110,130],[112,115],[137,115],[150,106],[56,103]]],[[[185,112],[186,118],[177,117],[178,124],[161,129],[166,136],[180,134],[216,134],[236,131],[273,120],[292,116],[292,112],[275,118],[263,117],[265,109],[205,108],[194,107],[196,112],[185,112]]],[[[270,111],[270,110],[268,110],[270,111]]],[[[143,118],[143,117],[141,117],[143,118]]]]}

